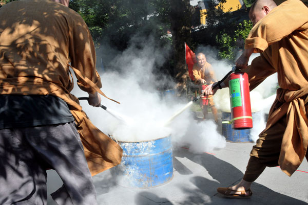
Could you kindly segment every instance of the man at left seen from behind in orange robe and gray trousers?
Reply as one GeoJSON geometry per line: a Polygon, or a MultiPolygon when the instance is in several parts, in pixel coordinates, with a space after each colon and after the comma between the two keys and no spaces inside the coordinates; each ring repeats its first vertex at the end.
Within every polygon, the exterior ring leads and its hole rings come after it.
{"type": "Polygon", "coordinates": [[[14,1],[0,8],[0,204],[46,204],[47,169],[63,186],[57,204],[97,204],[92,181],[121,162],[122,149],[91,124],[69,67],[89,105],[101,103],[95,50],[69,0],[14,1]]]}

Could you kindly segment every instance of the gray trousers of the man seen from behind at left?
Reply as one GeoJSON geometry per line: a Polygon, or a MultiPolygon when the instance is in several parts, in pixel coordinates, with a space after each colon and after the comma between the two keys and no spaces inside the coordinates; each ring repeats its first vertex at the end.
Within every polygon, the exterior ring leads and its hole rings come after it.
{"type": "Polygon", "coordinates": [[[0,129],[0,204],[47,204],[46,169],[63,186],[59,205],[97,205],[95,188],[75,123],[0,129]]]}

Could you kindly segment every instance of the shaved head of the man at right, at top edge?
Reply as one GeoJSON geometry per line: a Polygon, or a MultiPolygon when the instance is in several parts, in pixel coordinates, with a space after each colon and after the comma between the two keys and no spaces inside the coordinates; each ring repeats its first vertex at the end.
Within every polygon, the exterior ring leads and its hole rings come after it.
{"type": "Polygon", "coordinates": [[[277,7],[277,5],[273,0],[256,0],[249,10],[249,18],[255,25],[261,18],[266,16],[267,13],[272,11],[275,7],[277,7]]]}

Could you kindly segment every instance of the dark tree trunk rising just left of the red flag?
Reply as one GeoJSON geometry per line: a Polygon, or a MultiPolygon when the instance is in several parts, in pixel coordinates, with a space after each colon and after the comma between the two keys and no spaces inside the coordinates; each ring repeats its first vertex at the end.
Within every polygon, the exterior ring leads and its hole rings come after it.
{"type": "Polygon", "coordinates": [[[189,0],[170,0],[170,22],[172,42],[174,45],[174,77],[180,96],[186,94],[188,69],[185,63],[185,42],[190,45],[191,17],[194,7],[189,0]]]}

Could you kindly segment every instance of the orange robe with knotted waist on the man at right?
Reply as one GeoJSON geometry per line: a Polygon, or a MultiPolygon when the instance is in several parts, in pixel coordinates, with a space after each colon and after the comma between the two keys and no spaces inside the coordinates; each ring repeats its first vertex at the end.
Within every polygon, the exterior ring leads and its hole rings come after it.
{"type": "Polygon", "coordinates": [[[308,145],[308,8],[299,0],[274,8],[249,33],[245,49],[251,48],[261,53],[245,71],[251,90],[269,75],[278,74],[280,88],[261,134],[286,116],[278,164],[291,176],[308,145]],[[275,109],[278,104],[282,105],[275,109]]]}

